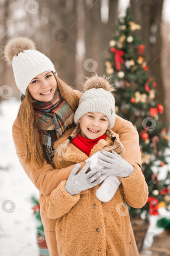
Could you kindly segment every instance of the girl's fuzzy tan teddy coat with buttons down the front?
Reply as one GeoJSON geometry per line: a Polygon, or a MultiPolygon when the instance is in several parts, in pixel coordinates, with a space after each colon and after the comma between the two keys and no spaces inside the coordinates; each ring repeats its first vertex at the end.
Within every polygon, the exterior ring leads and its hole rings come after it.
{"type": "MultiPolygon", "coordinates": [[[[67,130],[54,143],[54,148],[65,141],[73,129],[67,130]]],[[[112,143],[109,137],[99,140],[90,156],[101,150],[99,146],[103,148],[112,143]]],[[[67,167],[90,157],[72,143],[69,143],[66,155],[66,160],[60,164],[54,159],[56,168],[67,167]]],[[[139,165],[130,163],[135,168],[134,172],[120,178],[121,184],[108,203],[101,202],[95,195],[101,184],[88,189],[88,193],[71,196],[65,190],[64,180],[50,195],[40,195],[41,211],[48,218],[57,219],[55,233],[59,256],[128,256],[130,216],[127,204],[141,208],[148,198],[148,186],[139,165]]]]}

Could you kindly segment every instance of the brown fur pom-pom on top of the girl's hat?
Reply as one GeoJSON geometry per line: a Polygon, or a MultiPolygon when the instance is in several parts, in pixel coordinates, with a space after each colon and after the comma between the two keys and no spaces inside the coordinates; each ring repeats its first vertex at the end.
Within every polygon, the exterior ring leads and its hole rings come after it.
{"type": "Polygon", "coordinates": [[[111,76],[98,76],[97,74],[86,78],[83,86],[83,93],[92,88],[103,88],[109,93],[115,92],[116,89],[113,87],[113,84],[110,83],[111,76]]]}

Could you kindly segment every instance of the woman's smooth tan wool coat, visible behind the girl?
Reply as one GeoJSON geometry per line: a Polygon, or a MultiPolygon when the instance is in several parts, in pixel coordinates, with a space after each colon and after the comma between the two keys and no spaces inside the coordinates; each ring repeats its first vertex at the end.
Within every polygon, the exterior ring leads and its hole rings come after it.
{"type": "MultiPolygon", "coordinates": [[[[80,91],[75,91],[75,93],[80,98],[82,93],[80,91]]],[[[119,133],[119,139],[123,146],[125,147],[125,154],[123,159],[129,162],[136,162],[141,167],[142,159],[139,147],[139,134],[132,125],[130,121],[127,121],[116,114],[115,125],[112,131],[119,133]]],[[[43,195],[50,195],[51,192],[60,184],[61,181],[67,180],[74,165],[71,165],[62,169],[55,169],[52,165],[48,164],[46,159],[44,159],[43,166],[38,170],[32,166],[28,166],[24,163],[24,157],[26,155],[26,148],[23,144],[23,133],[21,123],[18,117],[16,117],[12,126],[12,137],[16,149],[16,155],[23,167],[24,172],[28,178],[32,181],[35,187],[39,190],[39,193],[43,195]]],[[[85,162],[81,162],[81,169],[85,165],[85,162]]],[[[80,169],[80,170],[81,170],[80,169]]],[[[78,172],[80,172],[80,170],[78,172]]],[[[88,190],[82,191],[81,194],[88,193],[88,190]]],[[[55,238],[55,225],[57,219],[48,218],[40,210],[41,220],[45,230],[46,241],[50,251],[50,256],[58,256],[57,243],[55,238]]],[[[137,256],[138,250],[134,238],[134,233],[132,230],[132,225],[130,223],[131,229],[131,241],[129,256],[137,256]]]]}

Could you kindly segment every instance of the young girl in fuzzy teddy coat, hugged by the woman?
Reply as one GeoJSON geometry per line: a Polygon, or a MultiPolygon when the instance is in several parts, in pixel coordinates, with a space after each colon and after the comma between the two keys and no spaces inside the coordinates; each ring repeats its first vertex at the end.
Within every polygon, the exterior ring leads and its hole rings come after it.
{"type": "Polygon", "coordinates": [[[68,180],[62,181],[51,195],[41,194],[39,198],[42,212],[51,219],[57,218],[59,256],[128,256],[130,216],[126,203],[141,208],[147,202],[148,187],[142,171],[137,163],[128,163],[120,156],[124,148],[111,130],[115,123],[115,99],[110,91],[108,80],[98,76],[88,79],[74,114],[76,128],[68,129],[54,143],[56,168],[77,163],[68,180]],[[100,169],[100,161],[94,157],[101,149],[110,158],[107,169],[100,169]],[[82,161],[86,164],[76,174],[82,161]],[[97,168],[92,177],[85,167],[93,166],[97,168]],[[95,196],[102,186],[98,184],[100,174],[104,173],[121,180],[115,196],[107,203],[95,196]],[[89,192],[81,195],[85,189],[89,192]]]}

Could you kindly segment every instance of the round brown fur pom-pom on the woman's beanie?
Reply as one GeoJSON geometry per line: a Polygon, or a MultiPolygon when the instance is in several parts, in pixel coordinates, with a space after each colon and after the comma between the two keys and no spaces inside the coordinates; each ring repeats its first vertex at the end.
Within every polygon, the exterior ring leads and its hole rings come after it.
{"type": "Polygon", "coordinates": [[[4,46],[3,59],[6,61],[7,66],[12,65],[13,56],[18,56],[23,50],[36,50],[35,43],[27,37],[14,37],[7,41],[4,46]]]}

